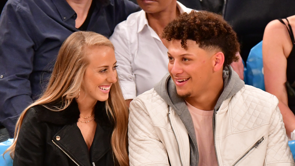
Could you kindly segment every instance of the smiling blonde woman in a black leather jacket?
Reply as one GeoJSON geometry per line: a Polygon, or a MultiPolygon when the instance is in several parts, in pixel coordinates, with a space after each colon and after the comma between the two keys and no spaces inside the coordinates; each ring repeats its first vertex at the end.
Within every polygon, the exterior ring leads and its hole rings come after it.
{"type": "Polygon", "coordinates": [[[74,32],[60,48],[44,94],[20,115],[13,165],[129,165],[128,111],[114,47],[74,32]]]}

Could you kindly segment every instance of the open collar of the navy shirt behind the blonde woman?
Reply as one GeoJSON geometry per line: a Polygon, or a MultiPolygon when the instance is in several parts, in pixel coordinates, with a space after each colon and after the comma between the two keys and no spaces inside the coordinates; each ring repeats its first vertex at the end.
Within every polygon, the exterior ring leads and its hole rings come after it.
{"type": "MultiPolygon", "coordinates": [[[[66,0],[52,0],[52,1],[59,12],[61,19],[64,22],[76,14],[76,12],[72,9],[72,7],[68,4],[66,0]]],[[[114,6],[114,0],[93,0],[93,1],[96,1],[97,9],[108,6],[109,4],[114,6]]]]}

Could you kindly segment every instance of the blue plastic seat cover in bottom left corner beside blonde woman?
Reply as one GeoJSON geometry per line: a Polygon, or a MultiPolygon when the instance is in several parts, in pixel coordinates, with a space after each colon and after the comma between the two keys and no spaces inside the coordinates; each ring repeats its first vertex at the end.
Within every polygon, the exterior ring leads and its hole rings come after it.
{"type": "MultiPolygon", "coordinates": [[[[7,141],[1,142],[0,143],[0,154],[3,154],[4,151],[12,144],[12,142],[13,142],[13,138],[8,139],[7,141]]],[[[13,162],[13,160],[11,159],[9,152],[7,152],[4,155],[4,158],[3,158],[3,155],[0,156],[0,165],[12,166],[12,162],[13,162]]]]}

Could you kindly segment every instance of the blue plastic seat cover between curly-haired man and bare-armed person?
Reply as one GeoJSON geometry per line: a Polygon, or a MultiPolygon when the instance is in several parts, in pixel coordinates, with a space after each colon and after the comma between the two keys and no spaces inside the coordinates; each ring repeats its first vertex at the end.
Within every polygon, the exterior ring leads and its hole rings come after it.
{"type": "Polygon", "coordinates": [[[262,62],[262,41],[255,45],[248,56],[245,71],[245,84],[252,85],[265,91],[263,62],[262,62]]]}

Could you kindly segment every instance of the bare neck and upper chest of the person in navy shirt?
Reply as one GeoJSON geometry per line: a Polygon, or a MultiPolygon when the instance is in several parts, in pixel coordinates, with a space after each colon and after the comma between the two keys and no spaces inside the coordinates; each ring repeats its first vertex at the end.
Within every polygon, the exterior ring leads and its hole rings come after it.
{"type": "Polygon", "coordinates": [[[79,28],[85,21],[92,0],[66,0],[72,9],[76,12],[77,18],[75,20],[75,27],[79,28]]]}

